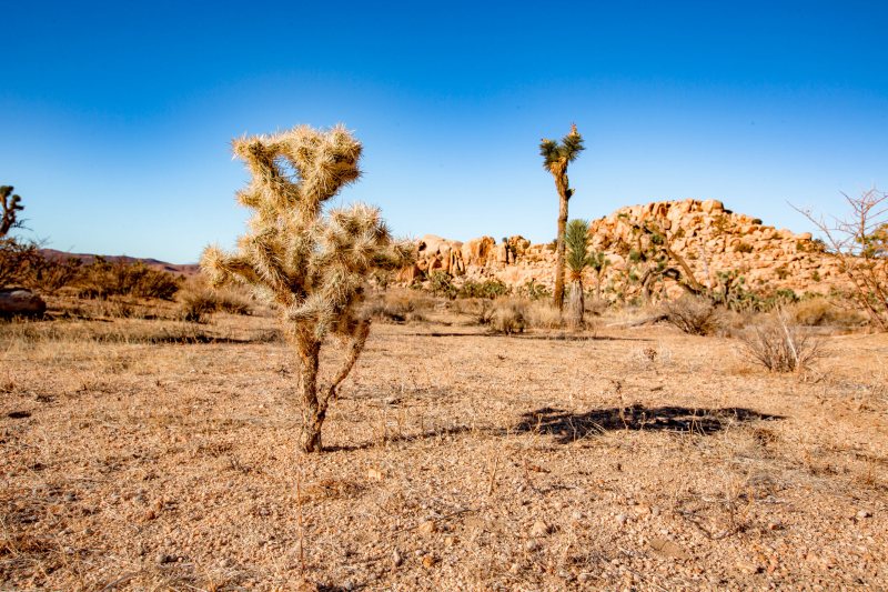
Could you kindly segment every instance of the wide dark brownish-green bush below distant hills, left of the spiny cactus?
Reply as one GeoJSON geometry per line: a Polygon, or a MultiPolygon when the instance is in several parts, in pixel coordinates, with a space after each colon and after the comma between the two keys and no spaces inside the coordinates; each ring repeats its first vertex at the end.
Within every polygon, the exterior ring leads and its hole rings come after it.
{"type": "Polygon", "coordinates": [[[144,263],[110,262],[101,257],[83,265],[77,280],[81,298],[131,295],[172,300],[181,283],[176,275],[151,269],[144,263]]]}

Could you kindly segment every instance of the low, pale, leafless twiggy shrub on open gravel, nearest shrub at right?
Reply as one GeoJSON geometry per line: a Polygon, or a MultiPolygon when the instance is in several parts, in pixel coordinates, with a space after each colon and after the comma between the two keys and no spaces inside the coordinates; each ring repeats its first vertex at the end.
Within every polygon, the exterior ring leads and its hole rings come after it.
{"type": "Polygon", "coordinates": [[[823,342],[779,312],[739,334],[743,353],[771,372],[805,370],[823,354],[823,342]]]}

